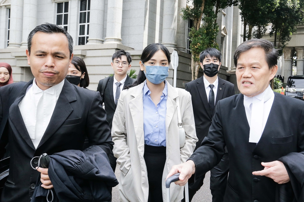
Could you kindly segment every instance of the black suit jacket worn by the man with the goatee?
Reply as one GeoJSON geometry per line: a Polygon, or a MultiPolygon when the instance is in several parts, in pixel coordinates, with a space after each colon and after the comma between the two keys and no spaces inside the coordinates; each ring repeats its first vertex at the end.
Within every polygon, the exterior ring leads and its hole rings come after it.
{"type": "Polygon", "coordinates": [[[33,157],[43,153],[52,155],[64,150],[82,150],[86,136],[89,145],[100,146],[108,156],[113,149],[114,143],[99,93],[75,86],[66,79],[50,123],[35,149],[18,106],[32,83],[33,80],[0,88],[0,125],[6,125],[0,141],[0,157],[7,143],[10,148],[9,177],[2,191],[1,202],[28,202],[32,197],[39,173],[30,166],[33,157]],[[23,86],[20,93],[12,90],[19,85],[23,86]],[[11,93],[14,95],[10,96],[11,93]],[[9,100],[9,97],[14,100],[9,100]],[[5,119],[7,115],[8,119],[5,119]]]}

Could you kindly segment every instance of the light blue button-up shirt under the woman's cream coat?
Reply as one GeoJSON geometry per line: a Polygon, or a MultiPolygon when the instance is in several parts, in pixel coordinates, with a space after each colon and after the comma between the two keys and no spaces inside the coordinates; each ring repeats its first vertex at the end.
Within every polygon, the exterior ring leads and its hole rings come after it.
{"type": "Polygon", "coordinates": [[[155,106],[151,97],[147,81],[143,86],[143,131],[145,144],[151,146],[166,146],[166,110],[167,110],[167,82],[161,95],[161,100],[155,106]]]}

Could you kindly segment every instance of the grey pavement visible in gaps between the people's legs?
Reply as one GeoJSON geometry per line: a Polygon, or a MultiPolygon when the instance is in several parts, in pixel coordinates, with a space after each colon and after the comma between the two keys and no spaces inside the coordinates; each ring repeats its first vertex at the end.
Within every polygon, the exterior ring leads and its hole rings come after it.
{"type": "MultiPolygon", "coordinates": [[[[119,179],[119,165],[116,165],[115,175],[116,178],[119,179]]],[[[204,180],[204,185],[201,187],[201,189],[194,195],[192,202],[211,202],[212,201],[212,195],[210,192],[210,171],[206,173],[206,177],[204,180]]],[[[113,187],[112,189],[112,202],[120,202],[119,200],[119,194],[118,194],[118,185],[116,187],[113,187]]]]}

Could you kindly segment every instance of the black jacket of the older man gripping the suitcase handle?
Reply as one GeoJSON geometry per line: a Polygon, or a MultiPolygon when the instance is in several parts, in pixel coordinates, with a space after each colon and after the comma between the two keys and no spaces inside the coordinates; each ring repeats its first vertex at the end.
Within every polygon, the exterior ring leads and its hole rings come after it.
{"type": "MultiPolygon", "coordinates": [[[[190,157],[196,165],[195,178],[216,166],[227,146],[229,177],[224,201],[279,201],[279,184],[252,172],[264,169],[261,162],[275,161],[291,152],[304,150],[304,102],[275,93],[257,144],[249,142],[249,131],[244,96],[238,94],[220,100],[208,136],[190,157]]],[[[285,185],[291,187],[290,182],[285,185]]]]}

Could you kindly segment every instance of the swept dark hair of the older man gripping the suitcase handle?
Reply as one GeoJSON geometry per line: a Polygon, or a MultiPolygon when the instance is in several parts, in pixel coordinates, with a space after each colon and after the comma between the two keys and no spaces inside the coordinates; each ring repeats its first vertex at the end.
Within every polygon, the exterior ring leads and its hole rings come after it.
{"type": "Polygon", "coordinates": [[[266,39],[250,39],[243,42],[235,50],[233,55],[234,65],[237,66],[237,60],[240,58],[241,53],[247,52],[252,48],[264,49],[265,58],[269,69],[272,69],[275,65],[278,64],[278,49],[275,49],[274,45],[270,41],[266,39]]]}

